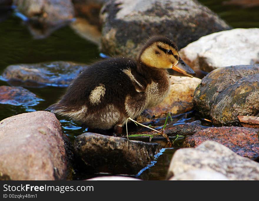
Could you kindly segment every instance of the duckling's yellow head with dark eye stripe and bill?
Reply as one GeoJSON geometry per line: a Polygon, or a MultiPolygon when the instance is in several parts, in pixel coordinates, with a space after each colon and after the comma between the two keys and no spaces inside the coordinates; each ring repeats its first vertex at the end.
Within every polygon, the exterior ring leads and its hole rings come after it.
{"type": "Polygon", "coordinates": [[[146,66],[173,69],[186,76],[196,73],[180,58],[177,46],[164,36],[153,36],[140,51],[138,61],[146,66]]]}

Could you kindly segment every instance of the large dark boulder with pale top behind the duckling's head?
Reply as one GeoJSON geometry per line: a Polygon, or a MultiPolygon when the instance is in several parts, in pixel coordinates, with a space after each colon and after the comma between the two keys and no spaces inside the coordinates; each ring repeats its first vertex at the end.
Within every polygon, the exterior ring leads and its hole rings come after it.
{"type": "Polygon", "coordinates": [[[207,7],[192,0],[116,0],[104,4],[101,50],[111,55],[137,55],[143,40],[161,34],[181,49],[201,36],[230,29],[207,7]]]}

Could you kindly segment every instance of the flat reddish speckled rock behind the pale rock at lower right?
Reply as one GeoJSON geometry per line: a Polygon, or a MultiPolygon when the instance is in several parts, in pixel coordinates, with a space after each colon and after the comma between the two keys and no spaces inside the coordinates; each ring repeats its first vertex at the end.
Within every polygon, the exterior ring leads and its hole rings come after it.
{"type": "Polygon", "coordinates": [[[199,131],[183,142],[184,147],[196,147],[206,140],[225,145],[236,154],[256,159],[259,157],[259,129],[245,127],[211,127],[199,131]]]}

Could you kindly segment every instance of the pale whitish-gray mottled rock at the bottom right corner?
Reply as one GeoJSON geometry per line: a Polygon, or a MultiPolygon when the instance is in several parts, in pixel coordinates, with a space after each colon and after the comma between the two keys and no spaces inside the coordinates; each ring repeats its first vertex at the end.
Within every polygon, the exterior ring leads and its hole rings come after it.
{"type": "Polygon", "coordinates": [[[175,152],[167,178],[192,170],[206,170],[223,174],[230,180],[259,180],[259,164],[239,156],[222,144],[205,141],[196,148],[184,148],[175,152]]]}

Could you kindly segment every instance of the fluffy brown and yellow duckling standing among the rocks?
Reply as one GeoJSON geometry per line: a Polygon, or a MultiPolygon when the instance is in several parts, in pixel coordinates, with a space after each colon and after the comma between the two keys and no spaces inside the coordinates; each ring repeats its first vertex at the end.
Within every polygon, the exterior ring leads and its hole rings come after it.
{"type": "Polygon", "coordinates": [[[61,100],[46,110],[80,121],[88,128],[114,128],[121,134],[128,117],[136,118],[167,96],[167,69],[195,76],[180,58],[175,43],[167,37],[151,37],[136,61],[117,57],[87,67],[61,100]]]}

